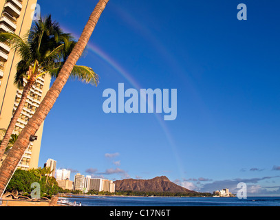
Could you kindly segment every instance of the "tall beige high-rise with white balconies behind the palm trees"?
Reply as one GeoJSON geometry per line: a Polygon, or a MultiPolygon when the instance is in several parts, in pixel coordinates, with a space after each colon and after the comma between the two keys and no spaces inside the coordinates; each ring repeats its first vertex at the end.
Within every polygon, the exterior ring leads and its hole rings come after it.
{"type": "MultiPolygon", "coordinates": [[[[24,36],[30,30],[36,0],[1,0],[0,1],[0,32],[14,32],[24,36]]],[[[0,43],[0,128],[7,128],[14,110],[19,104],[22,91],[14,86],[14,75],[17,72],[17,63],[20,57],[5,43],[0,43]]],[[[47,90],[50,88],[50,76],[42,76],[32,87],[25,107],[17,121],[14,133],[19,134],[47,90]]],[[[43,124],[36,132],[37,140],[30,142],[30,146],[19,163],[19,168],[37,168],[43,133],[43,124]]]]}

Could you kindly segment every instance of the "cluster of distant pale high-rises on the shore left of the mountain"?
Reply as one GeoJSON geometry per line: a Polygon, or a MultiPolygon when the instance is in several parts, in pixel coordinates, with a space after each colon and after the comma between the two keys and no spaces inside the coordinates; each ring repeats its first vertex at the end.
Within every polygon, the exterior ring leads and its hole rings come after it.
{"type": "Polygon", "coordinates": [[[80,190],[82,192],[104,191],[104,192],[115,192],[115,184],[109,179],[102,178],[91,178],[90,175],[81,175],[76,173],[74,181],[70,180],[71,170],[67,169],[56,169],[56,161],[54,159],[47,159],[44,167],[50,167],[53,170],[49,176],[55,177],[58,182],[58,186],[67,190],[80,190]]]}

